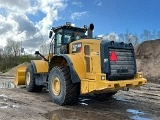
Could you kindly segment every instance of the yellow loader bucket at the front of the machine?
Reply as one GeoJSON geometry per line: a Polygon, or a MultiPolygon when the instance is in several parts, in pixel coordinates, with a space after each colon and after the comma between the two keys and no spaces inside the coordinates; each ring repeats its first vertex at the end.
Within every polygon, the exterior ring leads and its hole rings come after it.
{"type": "Polygon", "coordinates": [[[15,79],[14,79],[14,84],[16,86],[25,85],[26,67],[27,66],[21,66],[16,68],[15,79]]]}

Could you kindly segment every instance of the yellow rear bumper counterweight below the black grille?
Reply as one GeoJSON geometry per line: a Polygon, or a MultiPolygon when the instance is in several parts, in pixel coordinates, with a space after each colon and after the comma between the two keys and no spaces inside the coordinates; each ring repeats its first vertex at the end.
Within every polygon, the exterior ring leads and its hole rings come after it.
{"type": "Polygon", "coordinates": [[[147,80],[141,76],[142,73],[137,73],[134,79],[131,80],[102,80],[104,74],[96,74],[95,79],[82,79],[81,80],[81,93],[106,93],[110,91],[118,91],[125,88],[134,88],[147,83],[147,80]]]}

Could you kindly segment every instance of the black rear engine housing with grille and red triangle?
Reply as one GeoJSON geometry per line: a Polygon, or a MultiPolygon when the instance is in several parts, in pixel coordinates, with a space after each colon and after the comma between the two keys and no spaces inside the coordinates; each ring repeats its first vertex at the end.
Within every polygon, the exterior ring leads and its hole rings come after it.
{"type": "Polygon", "coordinates": [[[108,80],[133,79],[137,72],[133,45],[102,41],[101,70],[108,80]]]}

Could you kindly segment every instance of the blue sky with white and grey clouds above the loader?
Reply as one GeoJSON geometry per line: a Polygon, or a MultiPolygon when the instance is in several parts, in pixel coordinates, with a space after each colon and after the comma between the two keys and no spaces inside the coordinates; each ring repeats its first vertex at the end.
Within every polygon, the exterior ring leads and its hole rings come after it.
{"type": "Polygon", "coordinates": [[[52,26],[94,23],[94,35],[160,30],[160,0],[0,0],[0,46],[22,40],[35,51],[52,26]]]}

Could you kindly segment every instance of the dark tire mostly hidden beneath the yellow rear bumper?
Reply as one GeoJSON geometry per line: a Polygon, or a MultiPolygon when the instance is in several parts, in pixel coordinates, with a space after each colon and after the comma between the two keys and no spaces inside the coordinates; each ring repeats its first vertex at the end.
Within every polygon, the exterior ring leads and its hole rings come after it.
{"type": "Polygon", "coordinates": [[[111,99],[112,96],[115,95],[116,93],[117,93],[117,91],[110,92],[110,93],[94,94],[94,95],[95,95],[96,100],[105,101],[105,100],[111,99]]]}

